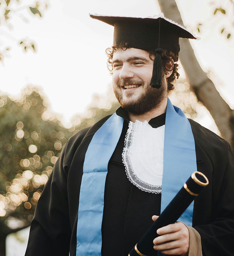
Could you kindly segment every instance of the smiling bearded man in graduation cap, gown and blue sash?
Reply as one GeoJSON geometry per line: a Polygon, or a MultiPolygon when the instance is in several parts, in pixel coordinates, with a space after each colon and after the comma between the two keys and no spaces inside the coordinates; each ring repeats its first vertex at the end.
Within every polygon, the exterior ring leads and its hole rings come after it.
{"type": "Polygon", "coordinates": [[[179,37],[195,36],[163,17],[91,17],[114,25],[109,63],[121,107],[63,148],[25,255],[127,256],[196,170],[208,187],[181,216],[184,223],[157,230],[158,251],[150,256],[233,255],[233,153],[167,99],[178,76],[179,37]]]}

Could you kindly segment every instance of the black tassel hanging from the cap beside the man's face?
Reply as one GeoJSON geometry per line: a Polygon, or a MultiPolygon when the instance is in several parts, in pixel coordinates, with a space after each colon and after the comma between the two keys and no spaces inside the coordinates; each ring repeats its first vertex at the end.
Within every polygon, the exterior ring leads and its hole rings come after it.
{"type": "Polygon", "coordinates": [[[155,58],[153,61],[153,73],[150,81],[150,85],[153,88],[159,89],[162,86],[162,59],[161,59],[161,48],[155,50],[155,58]]]}

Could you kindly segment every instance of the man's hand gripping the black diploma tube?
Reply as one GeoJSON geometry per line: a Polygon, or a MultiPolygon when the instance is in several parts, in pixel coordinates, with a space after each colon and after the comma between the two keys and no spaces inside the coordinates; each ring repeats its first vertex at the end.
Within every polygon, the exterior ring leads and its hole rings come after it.
{"type": "MultiPolygon", "coordinates": [[[[158,216],[153,215],[155,221],[158,216]]],[[[184,223],[176,222],[157,230],[160,235],[153,240],[154,250],[165,255],[187,256],[189,252],[189,231],[184,223]]]]}

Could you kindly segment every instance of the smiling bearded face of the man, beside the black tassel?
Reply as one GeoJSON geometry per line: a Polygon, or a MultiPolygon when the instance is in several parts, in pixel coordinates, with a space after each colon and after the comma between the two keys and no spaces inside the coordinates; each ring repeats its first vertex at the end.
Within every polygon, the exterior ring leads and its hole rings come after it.
{"type": "Polygon", "coordinates": [[[140,49],[119,49],[113,54],[113,89],[120,105],[137,115],[156,108],[167,97],[166,79],[159,89],[149,83],[152,77],[153,60],[149,53],[140,49]]]}

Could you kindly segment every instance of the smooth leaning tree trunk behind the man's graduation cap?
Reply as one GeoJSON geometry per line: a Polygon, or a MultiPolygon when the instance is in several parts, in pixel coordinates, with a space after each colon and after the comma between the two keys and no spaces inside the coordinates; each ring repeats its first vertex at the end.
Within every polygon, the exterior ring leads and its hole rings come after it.
{"type": "MultiPolygon", "coordinates": [[[[158,0],[166,18],[184,25],[174,0],[158,0]]],[[[214,83],[200,67],[188,39],[180,39],[180,61],[199,101],[211,113],[220,133],[234,151],[234,110],[223,100],[214,83]]]]}

